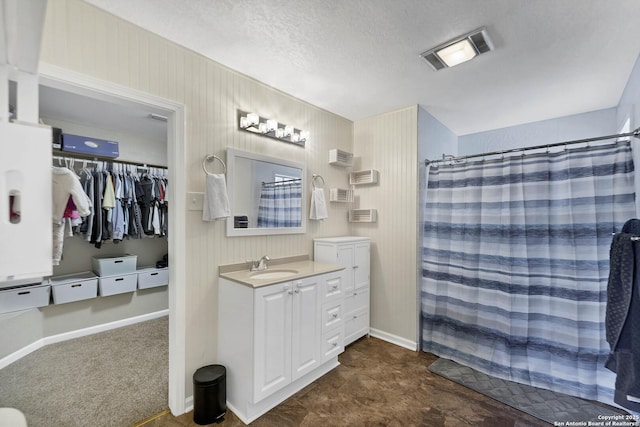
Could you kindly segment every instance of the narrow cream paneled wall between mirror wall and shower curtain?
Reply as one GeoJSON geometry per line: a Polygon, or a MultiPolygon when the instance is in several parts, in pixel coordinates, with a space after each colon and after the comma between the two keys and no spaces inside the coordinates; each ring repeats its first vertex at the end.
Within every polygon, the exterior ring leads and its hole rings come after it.
{"type": "Polygon", "coordinates": [[[418,107],[354,124],[354,170],[376,169],[379,183],[355,188],[361,208],[376,208],[376,223],[353,223],[352,233],[371,237],[371,327],[415,346],[418,209],[418,107]]]}

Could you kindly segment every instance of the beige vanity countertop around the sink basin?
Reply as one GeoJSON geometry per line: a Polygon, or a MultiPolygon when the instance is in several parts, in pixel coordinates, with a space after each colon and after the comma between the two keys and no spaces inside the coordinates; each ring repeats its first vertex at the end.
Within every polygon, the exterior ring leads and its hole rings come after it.
{"type": "Polygon", "coordinates": [[[291,257],[280,260],[272,260],[269,267],[262,271],[250,271],[246,264],[234,264],[220,266],[219,277],[232,280],[245,286],[259,288],[261,286],[273,285],[275,283],[299,280],[305,277],[317,276],[319,274],[332,273],[344,270],[344,267],[324,262],[312,261],[308,256],[291,257]],[[295,270],[295,274],[285,278],[255,278],[252,275],[259,273],[277,272],[283,270],[295,270]]]}

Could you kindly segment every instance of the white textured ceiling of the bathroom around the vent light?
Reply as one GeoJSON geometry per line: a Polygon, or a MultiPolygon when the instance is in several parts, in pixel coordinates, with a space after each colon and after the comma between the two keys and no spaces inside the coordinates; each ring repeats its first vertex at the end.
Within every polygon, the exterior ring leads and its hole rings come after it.
{"type": "Polygon", "coordinates": [[[86,0],[351,120],[420,104],[457,135],[616,106],[638,0],[86,0]],[[419,54],[486,26],[495,51],[419,54]]]}

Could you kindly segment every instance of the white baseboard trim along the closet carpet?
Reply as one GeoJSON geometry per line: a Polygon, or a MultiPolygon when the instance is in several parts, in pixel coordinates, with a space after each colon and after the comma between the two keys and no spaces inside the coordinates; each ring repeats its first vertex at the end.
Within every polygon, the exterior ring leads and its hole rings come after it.
{"type": "Polygon", "coordinates": [[[33,353],[34,351],[41,349],[42,347],[55,344],[62,341],[71,340],[74,338],[85,337],[87,335],[97,334],[99,332],[110,331],[112,329],[122,328],[123,326],[130,326],[136,323],[145,322],[147,320],[158,319],[160,317],[168,316],[169,310],[160,310],[153,313],[142,314],[140,316],[129,317],[127,319],[116,320],[114,322],[103,323],[101,325],[90,326],[88,328],[77,329],[75,331],[64,332],[62,334],[51,335],[50,337],[40,338],[39,340],[22,347],[20,350],[15,351],[2,359],[0,359],[0,369],[3,369],[13,362],[17,362],[26,355],[33,353]]]}

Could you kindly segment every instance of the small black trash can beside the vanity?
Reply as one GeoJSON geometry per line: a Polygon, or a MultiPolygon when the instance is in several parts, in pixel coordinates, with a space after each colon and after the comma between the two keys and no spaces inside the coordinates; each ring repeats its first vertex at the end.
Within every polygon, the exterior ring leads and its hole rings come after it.
{"type": "Polygon", "coordinates": [[[208,365],[193,374],[193,422],[219,423],[227,413],[227,370],[208,365]]]}

